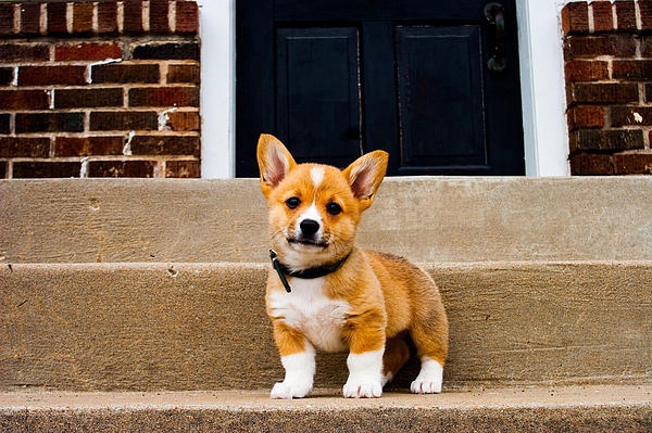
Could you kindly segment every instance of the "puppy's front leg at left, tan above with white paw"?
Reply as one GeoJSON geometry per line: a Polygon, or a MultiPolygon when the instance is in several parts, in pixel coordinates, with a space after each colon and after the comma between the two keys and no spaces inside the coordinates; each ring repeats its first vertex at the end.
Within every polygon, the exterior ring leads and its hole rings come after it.
{"type": "Polygon", "coordinates": [[[302,398],[312,391],[315,375],[315,348],[297,330],[276,321],[274,340],[286,370],[283,382],[272,389],[272,398],[302,398]]]}

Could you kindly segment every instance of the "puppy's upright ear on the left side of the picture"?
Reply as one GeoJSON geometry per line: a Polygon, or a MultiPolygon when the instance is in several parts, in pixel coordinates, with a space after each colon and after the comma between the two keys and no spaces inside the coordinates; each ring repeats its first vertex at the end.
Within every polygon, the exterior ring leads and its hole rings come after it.
{"type": "Polygon", "coordinates": [[[261,170],[261,190],[268,196],[297,163],[287,148],[268,133],[261,135],[256,156],[261,170]]]}

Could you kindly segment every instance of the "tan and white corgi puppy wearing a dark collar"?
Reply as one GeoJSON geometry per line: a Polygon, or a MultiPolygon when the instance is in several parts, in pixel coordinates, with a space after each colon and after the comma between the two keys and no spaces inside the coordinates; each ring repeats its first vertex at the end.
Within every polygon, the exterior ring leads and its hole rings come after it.
{"type": "Polygon", "coordinates": [[[414,342],[421,372],[413,393],[440,393],[448,319],[432,279],[408,260],[355,246],[355,232],[387,170],[367,153],[344,170],[297,164],[275,137],[258,143],[269,207],[266,309],[285,368],[272,398],[312,390],[317,351],[348,351],[344,397],[380,397],[414,342]]]}

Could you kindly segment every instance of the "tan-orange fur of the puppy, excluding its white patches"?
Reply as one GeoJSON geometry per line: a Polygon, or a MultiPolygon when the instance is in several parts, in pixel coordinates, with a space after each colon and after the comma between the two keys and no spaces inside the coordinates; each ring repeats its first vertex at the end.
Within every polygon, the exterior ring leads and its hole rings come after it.
{"type": "MultiPolygon", "coordinates": [[[[404,339],[409,335],[419,358],[429,357],[443,367],[448,320],[435,282],[403,258],[354,246],[362,213],[372,205],[385,177],[387,153],[371,152],[340,171],[326,165],[297,164],[280,141],[263,135],[258,158],[261,189],[269,206],[271,246],[278,259],[292,270],[301,270],[333,265],[350,254],[340,268],[315,283],[327,300],[349,306],[337,329],[350,354],[385,348],[383,372],[391,378],[408,360],[404,339]],[[324,170],[318,186],[311,179],[315,167],[324,170]],[[291,198],[300,201],[296,208],[287,204],[291,198]],[[341,206],[338,215],[327,212],[326,206],[334,202],[341,206]],[[288,241],[298,230],[297,219],[310,206],[318,211],[321,240],[327,246],[303,247],[288,241]]],[[[304,284],[297,278],[288,280],[290,285],[304,284]]],[[[289,326],[285,310],[278,313],[272,307],[273,300],[284,300],[286,295],[278,275],[272,269],[267,279],[267,314],[281,358],[303,353],[309,341],[301,331],[301,323],[289,326]]]]}

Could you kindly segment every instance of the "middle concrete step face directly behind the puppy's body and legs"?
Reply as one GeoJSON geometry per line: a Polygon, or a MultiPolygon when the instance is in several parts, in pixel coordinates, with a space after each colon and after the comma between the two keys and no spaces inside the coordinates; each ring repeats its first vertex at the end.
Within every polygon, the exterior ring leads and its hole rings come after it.
{"type": "MultiPolygon", "coordinates": [[[[0,267],[0,390],[269,389],[267,265],[0,267]]],[[[652,263],[442,264],[444,385],[652,382],[652,263]]],[[[394,385],[416,374],[412,362],[394,385]]],[[[342,355],[316,386],[339,387],[342,355]]]]}

